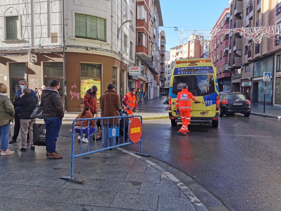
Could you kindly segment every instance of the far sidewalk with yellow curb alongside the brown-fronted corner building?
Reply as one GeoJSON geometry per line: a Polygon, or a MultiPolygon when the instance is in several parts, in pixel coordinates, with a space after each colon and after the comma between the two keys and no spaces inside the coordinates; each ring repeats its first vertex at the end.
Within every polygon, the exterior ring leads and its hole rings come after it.
{"type": "MultiPolygon", "coordinates": [[[[160,96],[159,98],[142,101],[141,104],[138,104],[140,111],[134,112],[134,115],[141,115],[143,120],[169,118],[169,113],[165,110],[168,107],[168,104],[165,103],[166,99],[167,96],[160,96]]],[[[65,112],[63,121],[72,121],[79,113],[80,112],[65,112]]],[[[98,114],[100,116],[100,111],[98,114]]]]}

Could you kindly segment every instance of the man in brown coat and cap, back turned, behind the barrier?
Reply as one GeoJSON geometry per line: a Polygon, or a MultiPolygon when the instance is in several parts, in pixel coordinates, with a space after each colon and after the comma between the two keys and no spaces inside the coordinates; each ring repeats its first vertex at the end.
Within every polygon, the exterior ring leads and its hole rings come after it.
{"type": "MultiPolygon", "coordinates": [[[[121,103],[119,101],[119,96],[115,92],[116,86],[113,84],[107,85],[107,91],[100,96],[100,108],[101,108],[101,117],[113,117],[119,116],[119,110],[121,110],[121,103]]],[[[118,124],[118,119],[115,118],[109,119],[109,125],[107,125],[107,120],[103,120],[102,126],[102,148],[108,147],[107,140],[108,140],[108,127],[116,127],[118,124]]],[[[115,137],[109,138],[109,147],[115,145],[115,137]]],[[[111,150],[113,150],[112,148],[111,150]]]]}

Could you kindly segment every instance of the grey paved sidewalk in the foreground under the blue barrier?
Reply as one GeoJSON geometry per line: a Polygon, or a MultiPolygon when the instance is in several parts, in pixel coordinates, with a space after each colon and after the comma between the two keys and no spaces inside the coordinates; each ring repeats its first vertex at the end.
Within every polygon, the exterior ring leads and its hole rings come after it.
{"type": "MultiPolygon", "coordinates": [[[[73,176],[85,180],[78,184],[60,179],[70,176],[69,137],[58,138],[56,148],[64,156],[59,160],[46,159],[43,146],[20,152],[17,142],[9,148],[16,153],[0,156],[0,210],[208,211],[171,173],[126,150],[74,159],[73,176]]],[[[80,142],[75,140],[74,149],[80,142]]]]}

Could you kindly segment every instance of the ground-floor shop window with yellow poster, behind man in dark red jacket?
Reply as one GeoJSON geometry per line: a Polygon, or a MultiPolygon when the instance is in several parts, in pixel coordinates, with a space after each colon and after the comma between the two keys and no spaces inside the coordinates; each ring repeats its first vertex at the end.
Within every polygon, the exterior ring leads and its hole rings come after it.
{"type": "Polygon", "coordinates": [[[80,108],[83,108],[83,98],[88,89],[97,86],[97,103],[100,103],[100,93],[102,80],[102,65],[80,63],[80,108]]]}

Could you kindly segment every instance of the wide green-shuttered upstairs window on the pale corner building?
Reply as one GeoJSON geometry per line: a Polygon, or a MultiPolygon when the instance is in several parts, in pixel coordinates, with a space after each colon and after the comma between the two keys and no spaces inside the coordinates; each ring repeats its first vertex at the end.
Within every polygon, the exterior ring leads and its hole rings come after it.
{"type": "Polygon", "coordinates": [[[75,37],[105,41],[105,19],[75,14],[75,37]]]}

